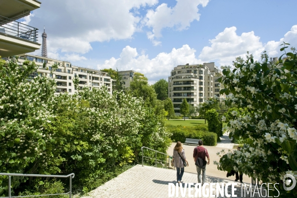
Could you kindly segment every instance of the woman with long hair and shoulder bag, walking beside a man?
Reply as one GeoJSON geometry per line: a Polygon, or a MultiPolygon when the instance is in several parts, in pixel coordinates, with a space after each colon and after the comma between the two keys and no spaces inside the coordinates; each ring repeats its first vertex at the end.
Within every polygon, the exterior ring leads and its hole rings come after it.
{"type": "Polygon", "coordinates": [[[178,183],[181,183],[185,171],[183,160],[186,161],[187,166],[189,166],[189,163],[186,159],[185,150],[182,147],[182,143],[178,141],[173,149],[171,161],[171,165],[176,167],[176,180],[178,183]]]}

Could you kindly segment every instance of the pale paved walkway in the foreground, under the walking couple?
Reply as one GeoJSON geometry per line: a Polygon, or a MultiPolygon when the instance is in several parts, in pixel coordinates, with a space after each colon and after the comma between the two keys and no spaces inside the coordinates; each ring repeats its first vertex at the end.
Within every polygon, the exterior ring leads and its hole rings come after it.
{"type": "MultiPolygon", "coordinates": [[[[197,174],[185,172],[182,181],[184,183],[184,188],[188,187],[188,185],[185,185],[185,183],[194,183],[191,185],[191,195],[195,195],[194,185],[197,183],[197,174]]],[[[206,177],[206,182],[220,183],[220,185],[222,183],[234,183],[230,180],[210,176],[206,177]]],[[[167,198],[169,186],[168,183],[173,183],[176,185],[175,170],[136,165],[120,174],[118,177],[106,182],[104,185],[90,192],[89,197],[85,198],[167,198]]],[[[240,183],[237,183],[235,188],[237,189],[237,197],[242,198],[240,183]]],[[[186,189],[186,198],[189,197],[188,189],[189,188],[186,189]]],[[[209,190],[209,186],[208,188],[206,187],[206,189],[209,190]]],[[[231,188],[228,188],[228,192],[231,195],[231,188]]],[[[216,194],[216,190],[213,191],[213,194],[216,194]]],[[[180,189],[178,195],[179,198],[182,198],[180,189]]],[[[257,195],[258,194],[255,194],[253,197],[259,198],[257,195]]],[[[174,197],[176,197],[176,192],[174,197]]],[[[202,193],[201,197],[203,197],[202,193]]],[[[206,197],[208,198],[210,196],[206,197]]],[[[250,196],[246,196],[246,198],[249,197],[250,196]]]]}

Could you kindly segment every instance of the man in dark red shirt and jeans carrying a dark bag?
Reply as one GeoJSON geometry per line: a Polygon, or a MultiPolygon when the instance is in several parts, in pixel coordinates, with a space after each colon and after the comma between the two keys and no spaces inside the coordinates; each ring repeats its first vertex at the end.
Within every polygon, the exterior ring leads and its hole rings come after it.
{"type": "MultiPolygon", "coordinates": [[[[205,160],[205,157],[207,157],[207,164],[209,164],[209,160],[210,160],[209,155],[208,155],[207,149],[203,147],[202,140],[199,140],[198,145],[199,145],[198,147],[194,148],[194,152],[193,152],[194,161],[196,162],[198,157],[202,158],[203,160],[205,160]]],[[[203,184],[206,181],[206,173],[205,173],[206,166],[205,166],[204,169],[199,168],[198,166],[196,166],[196,169],[197,169],[197,173],[198,173],[198,183],[201,183],[201,186],[203,186],[203,184]],[[200,179],[201,170],[202,170],[202,182],[201,182],[201,179],[200,179]]]]}

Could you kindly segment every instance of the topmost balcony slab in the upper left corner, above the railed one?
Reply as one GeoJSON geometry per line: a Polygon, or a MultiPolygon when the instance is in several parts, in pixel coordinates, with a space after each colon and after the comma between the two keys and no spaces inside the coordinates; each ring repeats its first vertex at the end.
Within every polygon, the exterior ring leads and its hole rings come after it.
{"type": "Polygon", "coordinates": [[[0,15],[17,20],[40,8],[40,4],[38,0],[0,0],[0,15]]]}

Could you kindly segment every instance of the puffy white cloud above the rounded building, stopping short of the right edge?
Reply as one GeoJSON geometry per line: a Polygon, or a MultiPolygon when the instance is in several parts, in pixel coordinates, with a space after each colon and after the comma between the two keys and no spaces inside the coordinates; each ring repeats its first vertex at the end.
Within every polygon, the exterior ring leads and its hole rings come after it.
{"type": "Polygon", "coordinates": [[[255,36],[253,31],[242,33],[239,36],[236,33],[236,27],[225,28],[209,42],[211,47],[204,47],[198,57],[203,62],[217,60],[217,65],[231,65],[236,57],[246,57],[247,51],[258,59],[264,50],[260,37],[255,36]]]}

